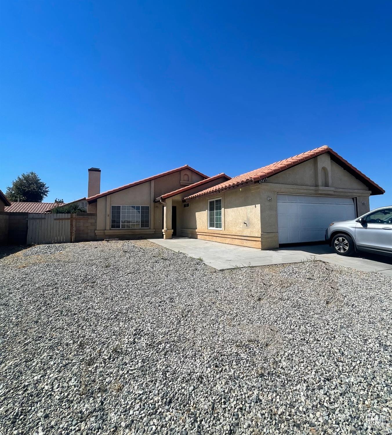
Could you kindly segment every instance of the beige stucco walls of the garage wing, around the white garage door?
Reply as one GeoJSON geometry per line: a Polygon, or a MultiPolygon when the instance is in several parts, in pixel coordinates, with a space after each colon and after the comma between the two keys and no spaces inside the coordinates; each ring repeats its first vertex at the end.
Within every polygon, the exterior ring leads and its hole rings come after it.
{"type": "Polygon", "coordinates": [[[361,215],[369,211],[371,192],[361,181],[331,161],[329,154],[322,154],[269,177],[265,183],[189,201],[189,207],[183,210],[182,234],[262,249],[278,248],[279,193],[352,197],[357,204],[357,214],[361,215]],[[220,230],[209,230],[207,225],[208,200],[214,197],[222,197],[223,229],[220,237],[216,235],[220,230]],[[247,238],[248,235],[253,238],[247,238]]]}

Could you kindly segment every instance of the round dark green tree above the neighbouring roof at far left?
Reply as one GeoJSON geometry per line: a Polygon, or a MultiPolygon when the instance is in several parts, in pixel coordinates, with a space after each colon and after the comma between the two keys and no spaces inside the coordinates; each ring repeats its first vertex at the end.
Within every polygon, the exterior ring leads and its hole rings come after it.
{"type": "Polygon", "coordinates": [[[35,172],[27,172],[17,177],[12,186],[7,187],[6,196],[10,201],[42,202],[49,193],[49,187],[35,172]]]}

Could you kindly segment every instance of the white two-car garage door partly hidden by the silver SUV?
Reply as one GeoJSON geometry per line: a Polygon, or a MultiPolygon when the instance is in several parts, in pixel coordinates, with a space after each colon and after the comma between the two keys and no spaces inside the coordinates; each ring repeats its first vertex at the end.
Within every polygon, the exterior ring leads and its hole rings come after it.
{"type": "Polygon", "coordinates": [[[279,243],[322,241],[331,222],[354,218],[353,198],[278,195],[279,243]]]}

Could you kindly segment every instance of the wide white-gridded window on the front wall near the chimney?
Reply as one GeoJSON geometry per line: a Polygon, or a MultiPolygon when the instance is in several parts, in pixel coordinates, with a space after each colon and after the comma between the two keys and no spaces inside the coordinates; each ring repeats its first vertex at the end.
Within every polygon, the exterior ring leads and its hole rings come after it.
{"type": "Polygon", "coordinates": [[[112,205],[111,228],[149,228],[149,206],[112,205]]]}

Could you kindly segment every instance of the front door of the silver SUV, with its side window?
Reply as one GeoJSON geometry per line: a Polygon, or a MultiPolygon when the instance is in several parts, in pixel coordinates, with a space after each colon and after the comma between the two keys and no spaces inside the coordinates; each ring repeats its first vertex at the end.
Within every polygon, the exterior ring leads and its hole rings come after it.
{"type": "Polygon", "coordinates": [[[392,253],[392,208],[372,211],[363,219],[363,223],[355,226],[358,248],[392,253]]]}

